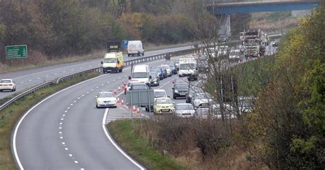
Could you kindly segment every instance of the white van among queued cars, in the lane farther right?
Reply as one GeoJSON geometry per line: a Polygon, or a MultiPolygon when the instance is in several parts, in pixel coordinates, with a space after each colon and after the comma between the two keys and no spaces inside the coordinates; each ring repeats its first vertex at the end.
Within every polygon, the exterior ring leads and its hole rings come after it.
{"type": "Polygon", "coordinates": [[[197,62],[195,58],[180,58],[178,77],[187,77],[189,80],[197,80],[197,62]]]}

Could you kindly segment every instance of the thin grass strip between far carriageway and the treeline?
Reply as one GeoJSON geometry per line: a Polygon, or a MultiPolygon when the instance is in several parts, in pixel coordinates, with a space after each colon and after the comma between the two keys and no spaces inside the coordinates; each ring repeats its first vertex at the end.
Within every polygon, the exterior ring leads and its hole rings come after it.
{"type": "MultiPolygon", "coordinates": [[[[193,42],[186,42],[178,45],[147,45],[145,46],[145,51],[155,50],[155,49],[166,49],[170,47],[181,47],[185,45],[191,45],[193,42]]],[[[124,51],[125,52],[125,51],[124,51]]],[[[82,60],[90,60],[95,58],[101,58],[104,56],[104,53],[106,53],[105,50],[96,50],[91,53],[88,53],[86,55],[82,56],[64,56],[62,58],[57,58],[56,60],[44,60],[44,61],[38,61],[34,64],[25,64],[24,66],[21,65],[14,65],[9,66],[8,64],[1,64],[0,63],[0,73],[8,73],[12,71],[22,71],[26,69],[34,69],[40,66],[50,66],[55,64],[64,64],[69,62],[78,62],[82,60]]],[[[45,57],[45,56],[43,56],[45,57]]],[[[45,57],[46,58],[46,57],[45,57]]],[[[14,62],[21,63],[21,60],[15,60],[14,62]]]]}

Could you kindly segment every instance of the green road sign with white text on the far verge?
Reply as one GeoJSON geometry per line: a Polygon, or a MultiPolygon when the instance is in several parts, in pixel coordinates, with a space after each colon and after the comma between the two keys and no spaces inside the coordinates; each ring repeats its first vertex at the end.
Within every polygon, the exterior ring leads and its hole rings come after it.
{"type": "Polygon", "coordinates": [[[5,46],[5,55],[10,58],[27,58],[27,45],[5,46]]]}

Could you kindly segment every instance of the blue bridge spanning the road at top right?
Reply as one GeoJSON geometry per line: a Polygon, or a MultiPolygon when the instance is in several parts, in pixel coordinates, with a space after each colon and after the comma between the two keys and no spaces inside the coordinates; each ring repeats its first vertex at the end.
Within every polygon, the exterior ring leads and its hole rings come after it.
{"type": "Polygon", "coordinates": [[[254,1],[206,4],[208,11],[214,15],[245,14],[252,12],[274,12],[311,10],[321,5],[320,0],[283,0],[283,1],[254,1]]]}

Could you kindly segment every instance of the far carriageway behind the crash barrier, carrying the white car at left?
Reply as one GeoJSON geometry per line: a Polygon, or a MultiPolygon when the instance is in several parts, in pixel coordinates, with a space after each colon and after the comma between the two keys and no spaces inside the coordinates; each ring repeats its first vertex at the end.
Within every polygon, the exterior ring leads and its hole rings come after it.
{"type": "MultiPolygon", "coordinates": [[[[168,49],[158,49],[154,51],[145,51],[145,56],[154,56],[161,53],[169,53],[173,51],[180,51],[183,49],[191,49],[193,46],[184,46],[184,47],[173,47],[168,49]]],[[[103,53],[104,56],[104,53],[103,53]]],[[[138,56],[130,56],[124,53],[124,60],[132,60],[135,58],[139,58],[138,56]]],[[[143,57],[143,56],[140,56],[143,57]]],[[[16,71],[12,73],[4,73],[0,74],[1,79],[13,79],[16,82],[16,90],[21,91],[26,88],[32,88],[38,84],[43,82],[55,80],[58,77],[62,77],[64,75],[69,75],[71,73],[77,73],[79,71],[84,71],[87,69],[96,68],[101,66],[102,58],[97,58],[93,60],[84,60],[80,62],[71,62],[66,64],[57,64],[53,66],[43,66],[36,69],[28,69],[25,71],[16,71]]],[[[5,91],[0,93],[0,99],[4,97],[8,97],[15,92],[5,91]]]]}

